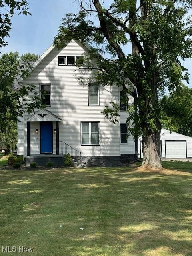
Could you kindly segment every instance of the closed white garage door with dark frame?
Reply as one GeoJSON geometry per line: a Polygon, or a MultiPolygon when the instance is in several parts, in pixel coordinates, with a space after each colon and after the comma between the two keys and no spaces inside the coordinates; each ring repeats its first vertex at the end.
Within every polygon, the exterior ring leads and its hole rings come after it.
{"type": "Polygon", "coordinates": [[[186,158],[186,141],[165,141],[166,158],[186,158]]]}

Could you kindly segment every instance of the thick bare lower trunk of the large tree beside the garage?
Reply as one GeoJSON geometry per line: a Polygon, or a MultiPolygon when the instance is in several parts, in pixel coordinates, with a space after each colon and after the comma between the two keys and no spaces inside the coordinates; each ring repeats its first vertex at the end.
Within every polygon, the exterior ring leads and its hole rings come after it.
{"type": "Polygon", "coordinates": [[[146,132],[143,135],[142,150],[143,162],[142,168],[162,169],[161,165],[161,130],[156,132],[146,132]]]}

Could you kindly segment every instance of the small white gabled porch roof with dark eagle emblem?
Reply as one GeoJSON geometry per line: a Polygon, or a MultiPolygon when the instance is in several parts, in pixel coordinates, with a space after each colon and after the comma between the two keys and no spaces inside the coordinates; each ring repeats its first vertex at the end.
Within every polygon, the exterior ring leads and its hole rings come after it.
{"type": "Polygon", "coordinates": [[[42,108],[38,110],[36,113],[34,113],[32,116],[30,116],[27,120],[27,122],[54,122],[59,121],[62,122],[58,116],[50,112],[49,110],[42,108]]]}

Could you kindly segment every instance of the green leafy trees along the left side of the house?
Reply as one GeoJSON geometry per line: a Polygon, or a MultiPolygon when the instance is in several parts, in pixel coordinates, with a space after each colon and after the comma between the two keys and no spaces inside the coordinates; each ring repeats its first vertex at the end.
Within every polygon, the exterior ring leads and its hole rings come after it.
{"type": "MultiPolygon", "coordinates": [[[[35,54],[24,54],[30,60],[37,58],[35,54]]],[[[31,113],[34,108],[41,108],[41,100],[34,89],[34,84],[29,84],[15,90],[13,84],[18,78],[30,76],[32,66],[27,60],[20,57],[18,52],[2,54],[0,57],[0,146],[6,145],[10,150],[14,149],[17,142],[16,123],[23,112],[31,113]],[[23,60],[22,63],[20,60],[23,60]],[[29,92],[34,96],[29,97],[29,92]]]]}

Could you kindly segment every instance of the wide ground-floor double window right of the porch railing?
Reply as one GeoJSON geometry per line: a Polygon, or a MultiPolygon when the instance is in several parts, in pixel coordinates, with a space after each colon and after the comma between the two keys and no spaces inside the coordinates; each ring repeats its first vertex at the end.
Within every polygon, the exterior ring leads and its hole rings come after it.
{"type": "Polygon", "coordinates": [[[100,144],[99,122],[81,122],[81,144],[100,144]]]}

